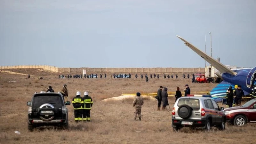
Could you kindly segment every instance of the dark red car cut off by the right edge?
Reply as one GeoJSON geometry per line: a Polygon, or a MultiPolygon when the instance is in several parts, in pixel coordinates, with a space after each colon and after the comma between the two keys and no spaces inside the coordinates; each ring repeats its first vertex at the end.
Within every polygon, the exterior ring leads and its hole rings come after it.
{"type": "Polygon", "coordinates": [[[256,123],[256,99],[246,102],[241,107],[224,109],[228,123],[244,126],[246,123],[256,123]]]}

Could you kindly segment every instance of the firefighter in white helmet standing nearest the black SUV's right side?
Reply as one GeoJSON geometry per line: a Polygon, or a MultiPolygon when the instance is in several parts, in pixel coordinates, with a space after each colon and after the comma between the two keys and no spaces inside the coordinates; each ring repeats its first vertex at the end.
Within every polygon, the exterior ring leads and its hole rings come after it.
{"type": "Polygon", "coordinates": [[[72,100],[72,104],[74,107],[74,115],[75,115],[75,122],[81,122],[83,120],[83,98],[81,97],[81,92],[77,91],[76,96],[72,100]]]}

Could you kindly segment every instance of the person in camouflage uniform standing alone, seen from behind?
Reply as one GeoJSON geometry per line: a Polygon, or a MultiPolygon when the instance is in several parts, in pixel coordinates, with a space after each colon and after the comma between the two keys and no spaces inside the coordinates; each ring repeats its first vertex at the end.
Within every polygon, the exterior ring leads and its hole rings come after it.
{"type": "Polygon", "coordinates": [[[134,120],[137,120],[137,114],[139,115],[139,120],[141,121],[141,106],[144,104],[143,98],[140,97],[140,92],[136,93],[136,98],[133,101],[133,107],[135,108],[134,120]]]}

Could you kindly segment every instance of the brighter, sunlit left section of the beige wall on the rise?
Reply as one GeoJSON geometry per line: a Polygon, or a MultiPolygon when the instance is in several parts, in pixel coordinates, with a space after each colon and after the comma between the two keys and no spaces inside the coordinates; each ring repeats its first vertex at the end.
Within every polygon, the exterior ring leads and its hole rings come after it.
{"type": "Polygon", "coordinates": [[[0,69],[13,69],[13,68],[42,68],[51,72],[58,72],[58,68],[47,65],[18,65],[18,66],[0,66],[0,69]]]}

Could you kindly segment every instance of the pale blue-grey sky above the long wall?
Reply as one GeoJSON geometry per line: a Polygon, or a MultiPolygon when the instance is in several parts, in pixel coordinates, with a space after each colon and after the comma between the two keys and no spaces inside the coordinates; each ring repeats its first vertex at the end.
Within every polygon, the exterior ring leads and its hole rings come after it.
{"type": "Polygon", "coordinates": [[[0,0],[0,66],[255,67],[255,0],[0,0]]]}

